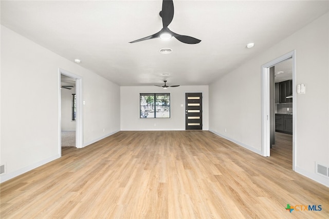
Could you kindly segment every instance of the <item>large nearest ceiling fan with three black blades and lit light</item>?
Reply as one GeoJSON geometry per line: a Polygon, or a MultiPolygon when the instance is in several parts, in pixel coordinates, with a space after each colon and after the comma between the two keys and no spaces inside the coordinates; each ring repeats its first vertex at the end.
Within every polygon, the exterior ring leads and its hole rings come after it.
{"type": "Polygon", "coordinates": [[[162,25],[163,28],[153,35],[141,38],[139,40],[132,41],[130,43],[136,43],[144,40],[150,40],[154,38],[160,38],[162,40],[169,40],[172,36],[179,40],[182,43],[187,44],[197,44],[201,42],[200,40],[193,38],[192,36],[180,35],[178,33],[174,33],[168,28],[168,25],[172,22],[174,17],[174,3],[172,0],[163,0],[162,1],[162,10],[159,13],[160,17],[162,17],[162,25]]]}

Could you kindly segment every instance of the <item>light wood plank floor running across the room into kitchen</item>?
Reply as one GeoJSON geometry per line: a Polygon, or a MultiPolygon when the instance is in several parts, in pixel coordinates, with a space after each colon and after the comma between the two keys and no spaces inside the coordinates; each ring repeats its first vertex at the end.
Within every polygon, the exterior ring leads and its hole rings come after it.
{"type": "Polygon", "coordinates": [[[328,218],[329,188],[291,170],[291,136],[276,143],[262,157],[208,131],[119,132],[1,184],[0,217],[328,218]]]}

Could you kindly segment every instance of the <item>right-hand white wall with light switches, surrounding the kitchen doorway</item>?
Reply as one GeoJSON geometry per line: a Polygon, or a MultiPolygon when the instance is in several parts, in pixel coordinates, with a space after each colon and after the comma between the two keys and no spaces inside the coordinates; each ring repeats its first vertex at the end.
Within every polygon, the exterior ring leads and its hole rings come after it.
{"type": "Polygon", "coordinates": [[[329,167],[328,13],[209,86],[209,130],[260,153],[261,66],[296,50],[296,171],[329,186],[315,174],[315,162],[329,167]],[[225,132],[226,129],[226,132],[225,132]]]}

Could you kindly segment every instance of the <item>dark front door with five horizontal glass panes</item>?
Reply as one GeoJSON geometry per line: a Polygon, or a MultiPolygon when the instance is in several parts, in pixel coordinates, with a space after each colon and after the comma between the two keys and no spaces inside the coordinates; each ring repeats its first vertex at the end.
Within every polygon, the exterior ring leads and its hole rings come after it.
{"type": "Polygon", "coordinates": [[[202,130],[202,93],[185,94],[185,129],[202,130]]]}

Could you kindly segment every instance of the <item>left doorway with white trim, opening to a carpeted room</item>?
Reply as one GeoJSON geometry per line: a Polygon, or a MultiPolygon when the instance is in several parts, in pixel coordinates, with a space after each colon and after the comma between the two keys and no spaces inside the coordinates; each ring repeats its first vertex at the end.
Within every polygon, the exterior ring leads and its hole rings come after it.
{"type": "Polygon", "coordinates": [[[59,69],[59,154],[63,147],[82,148],[82,78],[59,69]]]}

